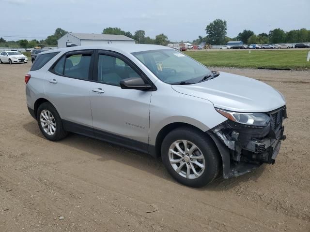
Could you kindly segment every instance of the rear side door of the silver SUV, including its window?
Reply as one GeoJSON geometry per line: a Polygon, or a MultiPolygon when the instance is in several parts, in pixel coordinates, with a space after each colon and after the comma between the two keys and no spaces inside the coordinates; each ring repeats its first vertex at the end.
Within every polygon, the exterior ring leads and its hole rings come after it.
{"type": "MultiPolygon", "coordinates": [[[[47,71],[45,93],[64,123],[92,131],[90,104],[93,50],[69,52],[47,71]]],[[[75,131],[70,128],[70,131],[75,131]]]]}

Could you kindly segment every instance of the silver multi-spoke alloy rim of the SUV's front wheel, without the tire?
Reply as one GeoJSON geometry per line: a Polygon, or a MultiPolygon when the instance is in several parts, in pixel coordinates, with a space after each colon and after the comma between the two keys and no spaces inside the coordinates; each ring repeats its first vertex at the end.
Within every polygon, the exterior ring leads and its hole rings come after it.
{"type": "Polygon", "coordinates": [[[205,170],[202,151],[187,140],[177,140],[171,144],[169,161],[174,171],[187,179],[196,179],[205,170]]]}

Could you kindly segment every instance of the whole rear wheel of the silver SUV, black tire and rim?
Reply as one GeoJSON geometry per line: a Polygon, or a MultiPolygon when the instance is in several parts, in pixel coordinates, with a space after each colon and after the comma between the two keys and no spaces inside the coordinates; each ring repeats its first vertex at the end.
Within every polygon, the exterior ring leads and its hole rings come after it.
{"type": "Polygon", "coordinates": [[[37,122],[40,131],[48,140],[58,141],[67,136],[67,131],[63,129],[62,119],[49,102],[44,102],[39,106],[37,122]]]}

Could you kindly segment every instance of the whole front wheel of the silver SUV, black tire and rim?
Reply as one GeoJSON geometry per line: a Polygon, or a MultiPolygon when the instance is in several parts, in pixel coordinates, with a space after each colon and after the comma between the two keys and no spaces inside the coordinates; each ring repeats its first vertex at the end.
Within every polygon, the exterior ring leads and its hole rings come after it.
{"type": "Polygon", "coordinates": [[[220,155],[212,139],[189,127],[167,134],[161,145],[161,158],[171,176],[190,187],[209,184],[220,171],[220,155]]]}

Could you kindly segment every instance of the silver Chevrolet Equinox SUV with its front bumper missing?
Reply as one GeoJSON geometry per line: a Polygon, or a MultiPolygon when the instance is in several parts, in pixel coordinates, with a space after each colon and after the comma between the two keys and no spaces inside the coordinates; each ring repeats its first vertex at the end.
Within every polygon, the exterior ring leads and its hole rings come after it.
{"type": "Polygon", "coordinates": [[[70,131],[161,156],[187,186],[273,164],[285,139],[285,99],[276,89],[164,46],[46,51],[25,82],[29,112],[47,139],[70,131]]]}

